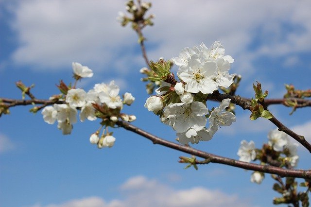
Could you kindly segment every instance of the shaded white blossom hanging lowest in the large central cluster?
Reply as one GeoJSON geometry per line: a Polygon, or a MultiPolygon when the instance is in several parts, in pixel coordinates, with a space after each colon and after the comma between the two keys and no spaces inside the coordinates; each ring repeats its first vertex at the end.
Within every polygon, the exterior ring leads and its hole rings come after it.
{"type": "Polygon", "coordinates": [[[188,142],[197,144],[199,141],[208,141],[212,138],[211,134],[206,128],[203,128],[200,131],[195,131],[194,129],[190,128],[186,132],[177,133],[176,136],[178,137],[178,141],[181,144],[188,144],[188,142]]]}

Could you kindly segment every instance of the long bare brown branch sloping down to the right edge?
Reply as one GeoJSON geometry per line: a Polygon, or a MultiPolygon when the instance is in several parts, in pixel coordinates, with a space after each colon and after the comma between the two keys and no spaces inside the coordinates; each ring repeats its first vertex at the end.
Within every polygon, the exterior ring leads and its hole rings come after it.
{"type": "Polygon", "coordinates": [[[159,144],[159,145],[162,145],[162,146],[165,146],[165,147],[177,150],[177,151],[188,153],[190,155],[199,156],[204,159],[208,159],[212,163],[225,164],[225,165],[230,165],[233,167],[242,168],[245,170],[259,171],[262,173],[277,174],[277,175],[280,175],[281,177],[311,178],[311,170],[306,170],[306,171],[290,170],[290,169],[283,169],[283,168],[279,168],[275,166],[259,165],[259,164],[254,164],[254,163],[242,162],[242,161],[226,158],[226,157],[219,156],[219,155],[213,155],[207,152],[194,149],[189,146],[176,144],[174,142],[156,137],[125,121],[117,121],[116,124],[128,131],[134,132],[142,137],[145,137],[151,140],[154,144],[159,144]]]}

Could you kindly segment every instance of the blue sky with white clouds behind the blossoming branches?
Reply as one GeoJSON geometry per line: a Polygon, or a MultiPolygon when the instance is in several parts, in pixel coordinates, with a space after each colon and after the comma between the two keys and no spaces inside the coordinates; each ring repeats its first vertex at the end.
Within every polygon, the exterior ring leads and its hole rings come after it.
{"type": "MultiPolygon", "coordinates": [[[[116,80],[121,93],[136,100],[124,112],[134,124],[159,137],[174,140],[173,130],[143,108],[146,98],[139,69],[145,67],[137,37],[116,21],[122,0],[0,0],[0,97],[20,99],[18,80],[37,98],[57,94],[60,79],[72,82],[71,62],[93,69],[94,77],[78,86],[116,80]]],[[[185,47],[221,41],[235,61],[231,73],[242,75],[237,93],[252,97],[259,81],[268,98],[280,98],[284,84],[310,88],[311,2],[156,0],[155,26],[146,28],[151,60],[177,56],[185,47]]],[[[113,148],[89,143],[99,121],[74,125],[63,136],[29,106],[11,109],[0,118],[0,204],[3,207],[143,207],[239,206],[268,207],[277,194],[266,175],[261,185],[250,183],[251,171],[219,164],[184,170],[183,153],[153,145],[124,129],[114,129],[113,148]]],[[[285,125],[311,141],[309,109],[272,106],[285,125]]],[[[237,110],[237,121],[195,147],[238,159],[242,139],[257,147],[267,142],[272,123],[250,121],[237,110]]],[[[298,168],[310,169],[309,154],[299,147],[298,168]]]]}

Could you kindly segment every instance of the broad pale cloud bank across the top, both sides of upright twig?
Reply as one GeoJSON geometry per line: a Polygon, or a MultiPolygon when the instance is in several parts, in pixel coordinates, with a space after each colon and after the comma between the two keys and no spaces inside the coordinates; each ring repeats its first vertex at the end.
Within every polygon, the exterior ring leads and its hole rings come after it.
{"type": "MultiPolygon", "coordinates": [[[[116,22],[120,10],[124,1],[20,0],[13,22],[21,44],[13,59],[43,68],[71,61],[97,66],[113,62],[115,53],[138,48],[134,31],[116,22]]],[[[261,55],[311,50],[310,10],[307,0],[156,0],[151,10],[155,26],[145,30],[148,42],[155,45],[149,57],[171,58],[184,47],[220,40],[236,60],[235,72],[245,77],[254,72],[252,61],[261,55]],[[249,49],[254,42],[257,48],[249,49]]],[[[138,57],[126,54],[125,60],[130,56],[138,57]]]]}

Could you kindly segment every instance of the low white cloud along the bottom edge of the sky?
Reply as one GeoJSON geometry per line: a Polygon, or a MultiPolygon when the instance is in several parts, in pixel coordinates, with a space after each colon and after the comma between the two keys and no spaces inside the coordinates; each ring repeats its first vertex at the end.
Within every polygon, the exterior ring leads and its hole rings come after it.
{"type": "MultiPolygon", "coordinates": [[[[219,190],[194,187],[186,190],[174,190],[157,180],[144,176],[128,179],[122,186],[124,200],[114,199],[106,202],[100,197],[75,199],[59,205],[44,207],[250,207],[249,202],[241,201],[237,195],[228,195],[219,190]]],[[[36,204],[33,207],[43,207],[36,204]]]]}

